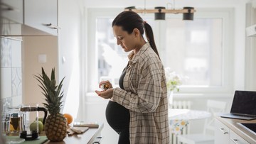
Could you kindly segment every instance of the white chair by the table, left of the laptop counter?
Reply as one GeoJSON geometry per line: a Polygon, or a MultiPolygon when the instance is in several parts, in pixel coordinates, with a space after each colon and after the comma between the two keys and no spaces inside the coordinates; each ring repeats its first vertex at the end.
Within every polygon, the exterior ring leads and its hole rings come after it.
{"type": "Polygon", "coordinates": [[[226,108],[224,101],[207,101],[207,111],[212,115],[207,118],[204,124],[203,133],[178,135],[178,144],[212,144],[214,143],[214,118],[215,113],[223,113],[226,108]]]}

